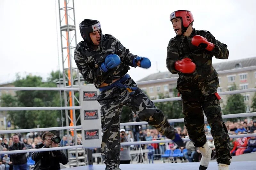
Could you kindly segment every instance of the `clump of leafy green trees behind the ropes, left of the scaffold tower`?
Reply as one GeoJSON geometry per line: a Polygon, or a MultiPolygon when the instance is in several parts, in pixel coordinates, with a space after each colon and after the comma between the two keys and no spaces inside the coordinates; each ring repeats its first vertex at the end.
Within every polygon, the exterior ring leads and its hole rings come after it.
{"type": "MultiPolygon", "coordinates": [[[[14,85],[16,87],[56,87],[53,82],[57,73],[52,72],[48,78],[49,82],[42,82],[40,76],[27,75],[25,78],[17,76],[14,85]]],[[[15,97],[16,107],[50,107],[60,106],[60,96],[58,91],[49,90],[20,90],[16,92],[15,97]]],[[[4,103],[7,103],[10,97],[3,98],[4,103]]],[[[2,102],[3,102],[2,101],[2,102]]],[[[5,106],[6,107],[6,106],[5,106]]],[[[13,107],[13,106],[10,106],[13,107]]],[[[13,122],[15,128],[36,128],[53,127],[57,125],[57,114],[60,111],[48,110],[28,110],[28,111],[12,111],[8,112],[8,119],[13,122]]]]}

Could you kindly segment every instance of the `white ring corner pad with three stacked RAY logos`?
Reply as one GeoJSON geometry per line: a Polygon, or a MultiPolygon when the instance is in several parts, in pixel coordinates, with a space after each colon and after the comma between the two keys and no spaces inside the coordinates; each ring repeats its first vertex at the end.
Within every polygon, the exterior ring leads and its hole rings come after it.
{"type": "Polygon", "coordinates": [[[101,147],[100,93],[94,85],[80,86],[80,118],[82,125],[83,148],[101,147]]]}

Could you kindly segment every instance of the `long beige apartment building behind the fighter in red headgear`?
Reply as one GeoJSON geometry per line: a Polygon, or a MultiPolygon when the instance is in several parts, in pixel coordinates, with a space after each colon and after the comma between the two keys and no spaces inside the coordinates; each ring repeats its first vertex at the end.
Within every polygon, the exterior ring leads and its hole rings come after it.
{"type": "MultiPolygon", "coordinates": [[[[256,57],[252,58],[244,58],[233,61],[225,61],[220,63],[213,64],[215,70],[219,73],[219,81],[220,87],[218,88],[218,92],[229,91],[232,90],[233,84],[236,84],[237,89],[251,89],[256,87],[256,69],[250,68],[252,66],[256,66],[256,57]],[[241,68],[248,67],[247,71],[239,71],[241,68]],[[226,73],[226,70],[239,69],[239,72],[236,73],[226,73]]],[[[159,99],[159,93],[163,93],[165,97],[173,97],[173,89],[176,88],[177,77],[178,74],[172,74],[170,72],[160,72],[150,74],[147,77],[137,81],[139,87],[147,92],[150,99],[159,99]],[[172,78],[171,81],[168,82],[154,82],[150,84],[140,85],[140,81],[149,81],[149,80],[158,80],[172,78]]],[[[241,93],[244,96],[244,102],[246,105],[246,112],[250,112],[252,97],[255,92],[241,93]]],[[[227,95],[222,95],[220,103],[226,104],[227,95]]]]}

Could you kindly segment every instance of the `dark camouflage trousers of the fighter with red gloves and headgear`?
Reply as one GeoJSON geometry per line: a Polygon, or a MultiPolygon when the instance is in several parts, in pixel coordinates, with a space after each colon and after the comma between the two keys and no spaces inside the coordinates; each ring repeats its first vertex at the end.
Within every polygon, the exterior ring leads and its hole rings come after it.
{"type": "Polygon", "coordinates": [[[196,95],[181,95],[185,126],[190,140],[195,147],[206,143],[204,131],[204,114],[211,127],[216,149],[217,163],[230,165],[230,144],[228,130],[222,120],[220,101],[215,94],[203,96],[201,91],[196,95]],[[204,111],[204,114],[203,114],[204,111]]]}

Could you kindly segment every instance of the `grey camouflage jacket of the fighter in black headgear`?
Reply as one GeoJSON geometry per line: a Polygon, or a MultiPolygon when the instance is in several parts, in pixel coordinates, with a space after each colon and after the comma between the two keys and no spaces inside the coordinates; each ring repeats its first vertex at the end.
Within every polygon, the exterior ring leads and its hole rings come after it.
{"type": "Polygon", "coordinates": [[[93,83],[96,88],[99,88],[103,82],[111,85],[114,79],[124,76],[130,69],[129,66],[132,66],[133,58],[137,57],[130,53],[129,49],[126,49],[115,37],[108,34],[102,36],[97,50],[93,50],[84,41],[81,41],[74,51],[79,72],[85,81],[93,83]],[[108,72],[102,72],[100,65],[109,54],[118,55],[121,64],[108,72]]]}

